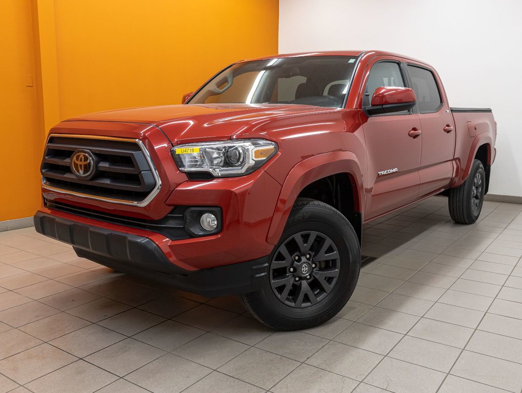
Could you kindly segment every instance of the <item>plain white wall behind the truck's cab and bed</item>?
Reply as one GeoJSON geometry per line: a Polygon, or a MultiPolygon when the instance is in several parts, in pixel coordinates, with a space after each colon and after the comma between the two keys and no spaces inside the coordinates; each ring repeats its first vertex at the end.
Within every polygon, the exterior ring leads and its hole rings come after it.
{"type": "Polygon", "coordinates": [[[522,2],[280,0],[279,53],[386,50],[440,74],[452,106],[498,123],[491,194],[522,196],[522,2]]]}

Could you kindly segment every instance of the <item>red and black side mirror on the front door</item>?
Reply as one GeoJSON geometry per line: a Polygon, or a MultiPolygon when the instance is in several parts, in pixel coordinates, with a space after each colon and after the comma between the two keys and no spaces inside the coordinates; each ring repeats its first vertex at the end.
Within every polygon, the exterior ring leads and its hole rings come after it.
{"type": "Polygon", "coordinates": [[[364,106],[367,115],[407,111],[417,101],[415,92],[407,87],[378,87],[373,93],[370,106],[364,106]]]}

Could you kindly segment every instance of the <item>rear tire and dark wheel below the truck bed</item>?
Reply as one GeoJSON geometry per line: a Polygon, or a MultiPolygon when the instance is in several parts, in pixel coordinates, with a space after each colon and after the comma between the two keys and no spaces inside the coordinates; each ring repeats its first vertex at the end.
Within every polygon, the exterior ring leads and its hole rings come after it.
{"type": "Polygon", "coordinates": [[[466,181],[449,190],[449,215],[453,221],[459,224],[477,221],[484,202],[485,180],[484,166],[479,160],[474,160],[466,181]]]}

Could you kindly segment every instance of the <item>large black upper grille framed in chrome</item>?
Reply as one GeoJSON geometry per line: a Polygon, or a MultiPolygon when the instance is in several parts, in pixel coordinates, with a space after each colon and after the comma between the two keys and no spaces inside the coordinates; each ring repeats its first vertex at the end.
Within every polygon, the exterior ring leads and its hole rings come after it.
{"type": "Polygon", "coordinates": [[[53,135],[45,146],[41,172],[45,186],[97,199],[143,203],[159,188],[159,178],[138,142],[123,138],[80,138],[53,135]],[[96,159],[92,178],[79,178],[70,168],[76,150],[96,159]]]}

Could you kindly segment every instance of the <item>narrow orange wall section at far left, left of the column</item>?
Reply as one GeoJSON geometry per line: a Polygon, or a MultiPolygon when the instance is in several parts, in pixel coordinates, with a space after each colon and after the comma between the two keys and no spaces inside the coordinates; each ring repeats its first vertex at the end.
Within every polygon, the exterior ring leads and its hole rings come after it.
{"type": "Polygon", "coordinates": [[[40,205],[44,134],[38,115],[30,0],[0,3],[0,221],[40,205]],[[31,85],[33,80],[33,86],[31,85]]]}

